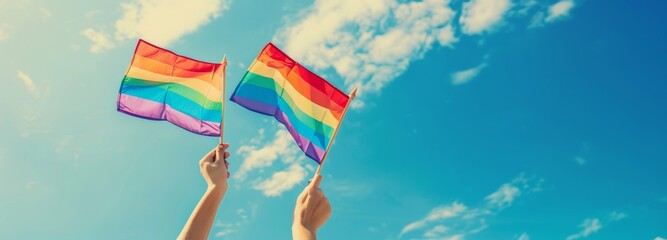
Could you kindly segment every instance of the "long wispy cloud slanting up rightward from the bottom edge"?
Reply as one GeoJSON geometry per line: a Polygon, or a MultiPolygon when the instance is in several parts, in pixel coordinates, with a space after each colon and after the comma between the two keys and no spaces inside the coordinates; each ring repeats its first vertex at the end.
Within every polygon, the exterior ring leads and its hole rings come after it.
{"type": "Polygon", "coordinates": [[[487,195],[477,207],[460,202],[438,206],[424,218],[403,227],[398,238],[464,239],[486,229],[486,219],[511,206],[519,196],[539,191],[541,181],[521,174],[487,195]]]}

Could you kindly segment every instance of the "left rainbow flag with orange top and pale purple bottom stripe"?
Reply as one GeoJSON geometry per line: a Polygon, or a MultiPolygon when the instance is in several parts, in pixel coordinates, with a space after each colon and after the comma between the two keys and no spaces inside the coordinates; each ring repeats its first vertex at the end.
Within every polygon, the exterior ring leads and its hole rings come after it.
{"type": "Polygon", "coordinates": [[[118,111],[219,136],[223,71],[221,64],[177,55],[140,39],[120,86],[118,111]]]}

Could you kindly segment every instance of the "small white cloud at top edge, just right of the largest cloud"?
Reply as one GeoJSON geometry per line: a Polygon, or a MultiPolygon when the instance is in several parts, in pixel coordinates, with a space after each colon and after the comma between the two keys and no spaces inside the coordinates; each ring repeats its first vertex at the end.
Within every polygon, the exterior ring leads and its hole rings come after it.
{"type": "Polygon", "coordinates": [[[493,30],[503,21],[512,7],[511,0],[471,0],[463,3],[459,23],[466,34],[480,34],[493,30]]]}

